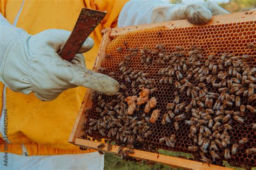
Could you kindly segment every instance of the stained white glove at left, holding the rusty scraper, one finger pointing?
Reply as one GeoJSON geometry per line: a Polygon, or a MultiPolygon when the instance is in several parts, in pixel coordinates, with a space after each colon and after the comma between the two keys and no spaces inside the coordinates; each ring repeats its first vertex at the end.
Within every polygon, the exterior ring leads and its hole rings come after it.
{"type": "MultiPolygon", "coordinates": [[[[1,31],[11,27],[1,23],[0,26],[1,31]]],[[[46,30],[30,36],[24,30],[15,29],[9,35],[12,40],[4,55],[0,56],[0,80],[10,89],[23,94],[33,92],[44,101],[53,100],[62,91],[77,86],[107,95],[118,92],[119,83],[116,80],[86,69],[82,54],[77,54],[71,62],[60,58],[57,52],[64,46],[69,31],[46,30]]],[[[8,30],[5,32],[9,33],[8,30]]],[[[79,53],[88,51],[92,46],[93,40],[87,38],[79,53]]]]}

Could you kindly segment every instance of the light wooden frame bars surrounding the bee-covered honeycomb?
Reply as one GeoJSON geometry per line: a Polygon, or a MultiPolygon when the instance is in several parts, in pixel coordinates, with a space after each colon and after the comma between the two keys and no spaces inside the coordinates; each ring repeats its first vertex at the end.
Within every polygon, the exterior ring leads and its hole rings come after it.
{"type": "MultiPolygon", "coordinates": [[[[255,20],[255,18],[256,18],[256,11],[238,12],[238,13],[233,13],[228,15],[214,16],[212,21],[207,25],[236,23],[238,21],[249,22],[249,21],[255,20]]],[[[120,34],[125,34],[130,31],[143,30],[143,29],[157,27],[157,26],[165,26],[169,29],[176,29],[179,27],[193,27],[194,25],[187,22],[187,20],[176,20],[172,22],[154,23],[154,24],[139,25],[139,26],[128,26],[128,27],[114,28],[114,29],[107,28],[103,30],[104,36],[99,47],[98,55],[97,55],[93,70],[96,71],[100,67],[101,63],[105,59],[106,47],[114,37],[120,34]]],[[[92,95],[93,95],[92,90],[87,89],[86,94],[84,96],[84,100],[78,112],[75,125],[70,134],[69,142],[77,146],[84,146],[87,148],[99,150],[97,146],[99,145],[100,142],[90,141],[90,140],[81,138],[81,136],[84,134],[84,131],[82,130],[83,123],[86,121],[84,112],[86,109],[90,109],[92,107],[92,102],[91,102],[92,95]]],[[[107,146],[104,146],[100,148],[100,150],[104,152],[117,154],[118,147],[119,146],[114,145],[112,146],[112,149],[110,151],[107,151],[107,146]]],[[[169,165],[172,167],[179,167],[179,168],[186,168],[186,169],[230,169],[230,168],[221,167],[217,165],[204,164],[203,162],[170,157],[167,155],[140,151],[140,150],[134,150],[134,153],[129,154],[129,156],[133,158],[154,161],[154,162],[169,165]]]]}

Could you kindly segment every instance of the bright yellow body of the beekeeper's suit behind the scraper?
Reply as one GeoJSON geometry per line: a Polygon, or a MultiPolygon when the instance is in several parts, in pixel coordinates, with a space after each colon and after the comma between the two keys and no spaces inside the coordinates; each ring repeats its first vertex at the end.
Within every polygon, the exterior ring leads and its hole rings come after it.
{"type": "MultiPolygon", "coordinates": [[[[82,8],[107,11],[103,22],[91,34],[95,46],[84,54],[86,66],[92,69],[102,39],[102,29],[117,25],[120,10],[128,0],[0,0],[0,12],[11,23],[17,20],[29,34],[46,29],[72,31],[82,8]],[[17,17],[18,16],[18,17],[17,17]]],[[[17,56],[18,57],[18,56],[17,56]]],[[[2,108],[4,85],[0,84],[0,105],[2,108]]],[[[42,102],[33,94],[15,93],[6,88],[6,109],[8,114],[9,153],[22,153],[22,144],[29,155],[52,155],[78,153],[79,148],[68,143],[85,88],[78,87],[64,91],[56,100],[42,102]]],[[[4,152],[0,138],[0,151],[4,152]]],[[[87,150],[84,152],[92,152],[87,150]]]]}

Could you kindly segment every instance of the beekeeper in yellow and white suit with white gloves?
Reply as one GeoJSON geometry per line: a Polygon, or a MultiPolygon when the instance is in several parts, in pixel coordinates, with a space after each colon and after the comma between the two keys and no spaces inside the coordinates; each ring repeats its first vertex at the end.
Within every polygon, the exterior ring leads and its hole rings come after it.
{"type": "Polygon", "coordinates": [[[149,0],[0,2],[0,169],[104,167],[104,157],[98,152],[80,151],[68,143],[85,87],[109,95],[117,93],[119,88],[117,81],[88,70],[95,61],[102,29],[178,19],[205,24],[213,15],[228,13],[212,2],[190,5],[149,0]],[[107,11],[103,22],[79,51],[86,52],[86,65],[82,54],[68,62],[57,53],[82,8],[107,11]]]}

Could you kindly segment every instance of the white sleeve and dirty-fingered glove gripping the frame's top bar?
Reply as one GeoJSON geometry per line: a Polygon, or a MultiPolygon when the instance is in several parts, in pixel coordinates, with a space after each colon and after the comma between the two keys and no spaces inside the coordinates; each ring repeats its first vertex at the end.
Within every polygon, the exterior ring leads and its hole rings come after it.
{"type": "Polygon", "coordinates": [[[187,19],[192,24],[206,24],[214,15],[227,12],[214,2],[170,4],[167,0],[130,0],[118,18],[118,27],[187,19]]]}

